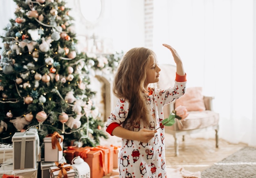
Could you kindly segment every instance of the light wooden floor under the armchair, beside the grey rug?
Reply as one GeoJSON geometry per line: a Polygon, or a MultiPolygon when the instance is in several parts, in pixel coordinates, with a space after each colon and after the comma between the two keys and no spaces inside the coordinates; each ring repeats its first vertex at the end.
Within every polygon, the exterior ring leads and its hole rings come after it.
{"type": "MultiPolygon", "coordinates": [[[[185,141],[179,139],[179,156],[174,154],[174,139],[170,134],[165,134],[165,155],[166,167],[184,167],[185,170],[196,172],[203,171],[211,167],[214,163],[221,161],[239,149],[247,146],[246,144],[231,144],[219,139],[219,147],[215,147],[215,139],[191,138],[185,136],[185,141]]],[[[103,178],[109,178],[110,175],[103,178]]]]}

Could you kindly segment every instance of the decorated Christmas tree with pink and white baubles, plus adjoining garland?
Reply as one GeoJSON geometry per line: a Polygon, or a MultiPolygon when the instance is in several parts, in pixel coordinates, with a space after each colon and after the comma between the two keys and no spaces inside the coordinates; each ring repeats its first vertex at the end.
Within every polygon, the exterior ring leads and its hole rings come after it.
{"type": "Polygon", "coordinates": [[[99,137],[107,136],[90,89],[90,71],[115,70],[120,55],[79,53],[74,18],[65,1],[14,2],[16,19],[1,36],[1,142],[11,143],[15,132],[36,127],[40,143],[56,131],[67,146],[74,141],[98,145],[99,137]]]}

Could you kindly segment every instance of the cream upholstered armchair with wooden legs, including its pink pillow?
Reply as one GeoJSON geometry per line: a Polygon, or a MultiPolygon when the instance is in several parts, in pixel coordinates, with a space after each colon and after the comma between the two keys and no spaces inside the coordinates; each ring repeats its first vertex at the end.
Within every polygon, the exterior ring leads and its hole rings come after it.
{"type": "MultiPolygon", "coordinates": [[[[176,66],[164,64],[159,67],[161,68],[160,75],[164,77],[160,77],[157,83],[158,87],[167,88],[173,86],[176,66]]],[[[189,112],[189,116],[182,121],[182,125],[176,120],[174,125],[164,127],[165,132],[172,134],[174,137],[175,156],[179,155],[179,141],[177,138],[182,136],[182,141],[184,141],[186,134],[215,130],[216,147],[218,147],[219,114],[213,111],[212,99],[213,97],[202,95],[201,87],[187,87],[184,96],[164,106],[164,119],[179,105],[186,106],[189,112]]]]}

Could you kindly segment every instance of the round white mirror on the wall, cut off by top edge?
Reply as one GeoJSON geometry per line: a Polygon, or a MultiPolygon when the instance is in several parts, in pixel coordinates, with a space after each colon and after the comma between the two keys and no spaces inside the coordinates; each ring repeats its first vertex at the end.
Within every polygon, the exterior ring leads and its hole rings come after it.
{"type": "Polygon", "coordinates": [[[80,9],[83,17],[92,23],[99,19],[101,6],[101,0],[80,0],[80,9]]]}

